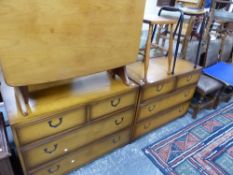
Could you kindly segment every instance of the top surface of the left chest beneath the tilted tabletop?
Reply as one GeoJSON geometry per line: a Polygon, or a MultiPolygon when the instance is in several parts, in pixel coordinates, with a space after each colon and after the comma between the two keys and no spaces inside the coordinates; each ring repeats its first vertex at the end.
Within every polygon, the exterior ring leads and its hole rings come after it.
{"type": "Polygon", "coordinates": [[[70,80],[66,84],[30,93],[28,116],[20,112],[15,98],[15,90],[8,86],[2,78],[1,91],[11,124],[24,122],[37,116],[62,112],[69,108],[83,106],[121,93],[127,93],[136,84],[126,86],[120,79],[112,79],[107,72],[97,73],[70,80]]]}

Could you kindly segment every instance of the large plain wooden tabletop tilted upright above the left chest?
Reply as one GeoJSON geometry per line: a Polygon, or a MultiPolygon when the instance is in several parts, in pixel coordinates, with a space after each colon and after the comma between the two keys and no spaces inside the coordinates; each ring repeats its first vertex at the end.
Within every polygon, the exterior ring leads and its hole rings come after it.
{"type": "Polygon", "coordinates": [[[1,0],[7,84],[65,80],[135,62],[144,6],[145,0],[1,0]]]}

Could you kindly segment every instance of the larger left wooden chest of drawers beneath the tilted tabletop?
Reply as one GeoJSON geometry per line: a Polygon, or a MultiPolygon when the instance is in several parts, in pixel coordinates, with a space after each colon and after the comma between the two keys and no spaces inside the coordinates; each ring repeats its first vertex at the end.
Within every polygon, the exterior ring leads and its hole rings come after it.
{"type": "Polygon", "coordinates": [[[25,174],[63,174],[130,140],[138,86],[106,72],[32,92],[28,116],[2,92],[25,174]]]}

